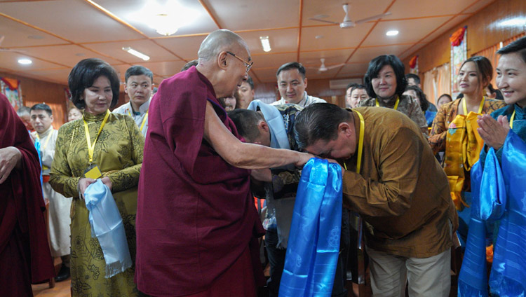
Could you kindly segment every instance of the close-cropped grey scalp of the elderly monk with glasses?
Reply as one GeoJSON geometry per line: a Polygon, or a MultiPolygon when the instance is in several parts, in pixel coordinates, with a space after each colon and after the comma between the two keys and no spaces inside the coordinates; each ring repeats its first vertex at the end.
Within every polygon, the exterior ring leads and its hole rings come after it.
{"type": "Polygon", "coordinates": [[[231,51],[238,47],[248,51],[247,43],[238,34],[227,29],[216,30],[201,43],[197,57],[199,62],[213,60],[222,51],[231,51]]]}

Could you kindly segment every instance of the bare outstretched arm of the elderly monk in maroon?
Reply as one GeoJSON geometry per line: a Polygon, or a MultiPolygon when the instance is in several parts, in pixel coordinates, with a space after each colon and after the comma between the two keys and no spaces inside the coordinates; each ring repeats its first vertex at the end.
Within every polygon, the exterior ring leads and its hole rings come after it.
{"type": "Polygon", "coordinates": [[[204,139],[230,165],[245,169],[262,169],[288,164],[302,166],[313,157],[288,149],[245,144],[223,125],[210,102],[206,102],[204,139]]]}

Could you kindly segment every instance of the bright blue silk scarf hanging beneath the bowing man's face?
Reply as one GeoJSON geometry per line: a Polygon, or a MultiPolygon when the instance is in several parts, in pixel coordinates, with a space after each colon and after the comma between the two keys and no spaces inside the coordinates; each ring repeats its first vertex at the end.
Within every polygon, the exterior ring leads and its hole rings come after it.
{"type": "Polygon", "coordinates": [[[330,296],[342,228],[342,169],[311,158],[303,168],[280,297],[330,296]]]}

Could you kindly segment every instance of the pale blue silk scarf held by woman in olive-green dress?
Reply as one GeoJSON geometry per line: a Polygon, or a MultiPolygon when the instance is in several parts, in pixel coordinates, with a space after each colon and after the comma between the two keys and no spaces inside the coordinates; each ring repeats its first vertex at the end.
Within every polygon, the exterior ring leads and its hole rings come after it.
{"type": "Polygon", "coordinates": [[[132,265],[122,217],[109,188],[97,179],[84,191],[86,208],[89,210],[91,237],[97,237],[104,261],[106,278],[123,272],[132,265]]]}

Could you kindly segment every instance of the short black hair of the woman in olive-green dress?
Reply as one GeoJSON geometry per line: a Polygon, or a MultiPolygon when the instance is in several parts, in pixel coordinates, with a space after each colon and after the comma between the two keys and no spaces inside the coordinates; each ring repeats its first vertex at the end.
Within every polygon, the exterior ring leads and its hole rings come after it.
{"type": "Polygon", "coordinates": [[[72,93],[70,98],[73,104],[78,109],[84,109],[86,102],[83,99],[84,90],[93,85],[95,79],[100,76],[108,78],[109,84],[112,86],[112,104],[110,108],[119,102],[119,76],[117,72],[107,62],[97,58],[88,58],[78,62],[72,71],[69,72],[67,84],[69,91],[72,93]]]}

